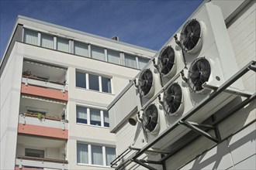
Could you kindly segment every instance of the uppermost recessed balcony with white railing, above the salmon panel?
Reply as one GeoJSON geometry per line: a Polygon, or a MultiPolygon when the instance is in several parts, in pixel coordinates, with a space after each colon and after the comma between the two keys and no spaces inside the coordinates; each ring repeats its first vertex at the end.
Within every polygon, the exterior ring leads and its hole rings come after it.
{"type": "Polygon", "coordinates": [[[67,91],[67,70],[60,66],[24,60],[22,83],[67,91]]]}

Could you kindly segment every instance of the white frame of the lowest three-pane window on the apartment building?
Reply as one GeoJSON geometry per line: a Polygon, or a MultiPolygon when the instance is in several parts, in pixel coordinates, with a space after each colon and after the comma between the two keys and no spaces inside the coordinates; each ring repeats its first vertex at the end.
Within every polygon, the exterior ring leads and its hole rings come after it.
{"type": "Polygon", "coordinates": [[[77,159],[77,165],[92,165],[92,166],[99,166],[99,167],[110,167],[110,165],[107,165],[107,155],[106,155],[106,148],[113,148],[115,150],[115,158],[116,158],[116,147],[113,147],[113,146],[107,146],[107,145],[98,145],[98,144],[89,144],[87,142],[83,142],[83,141],[77,141],[77,144],[76,144],[76,159],[77,159]],[[88,155],[87,155],[87,158],[88,158],[88,163],[81,163],[81,162],[78,162],[78,145],[85,145],[87,146],[87,151],[88,151],[88,155]],[[92,147],[95,146],[95,147],[100,147],[102,148],[102,165],[97,165],[97,164],[92,164],[92,147]]]}

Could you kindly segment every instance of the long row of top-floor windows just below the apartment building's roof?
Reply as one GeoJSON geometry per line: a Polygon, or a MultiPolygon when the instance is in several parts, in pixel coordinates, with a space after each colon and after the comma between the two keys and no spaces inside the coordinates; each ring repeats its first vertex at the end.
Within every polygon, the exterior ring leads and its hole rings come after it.
{"type": "Polygon", "coordinates": [[[104,49],[85,42],[78,42],[64,39],[58,36],[51,36],[45,33],[36,32],[31,29],[24,30],[23,42],[42,46],[48,49],[57,49],[66,53],[74,53],[79,56],[92,57],[109,63],[121,64],[135,69],[142,69],[149,59],[133,56],[127,53],[120,53],[112,49],[104,49]]]}

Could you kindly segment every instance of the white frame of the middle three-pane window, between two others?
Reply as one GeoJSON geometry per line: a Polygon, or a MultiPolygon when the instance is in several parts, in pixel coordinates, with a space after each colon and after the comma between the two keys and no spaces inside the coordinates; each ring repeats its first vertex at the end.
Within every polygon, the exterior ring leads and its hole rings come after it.
{"type": "MultiPolygon", "coordinates": [[[[92,106],[88,106],[86,104],[76,104],[76,106],[78,107],[85,107],[87,110],[87,125],[90,125],[90,126],[95,126],[95,127],[101,127],[101,128],[109,128],[109,127],[106,127],[104,126],[104,111],[107,111],[106,109],[102,108],[102,107],[92,107],[92,106]],[[91,109],[95,109],[95,110],[99,110],[99,113],[100,113],[100,123],[101,125],[95,125],[95,124],[91,124],[91,109]]],[[[76,110],[77,112],[77,110],[76,110]]],[[[76,117],[75,117],[75,120],[77,119],[77,114],[75,114],[76,117]]],[[[76,122],[76,124],[83,124],[83,123],[78,123],[76,122]]]]}

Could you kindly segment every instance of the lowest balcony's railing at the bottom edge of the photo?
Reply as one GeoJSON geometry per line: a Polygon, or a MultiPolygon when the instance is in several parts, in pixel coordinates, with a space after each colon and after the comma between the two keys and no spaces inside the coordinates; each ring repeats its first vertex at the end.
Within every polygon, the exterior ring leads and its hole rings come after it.
{"type": "Polygon", "coordinates": [[[54,169],[67,169],[67,160],[53,159],[53,158],[37,158],[30,156],[16,157],[16,166],[20,168],[27,166],[33,168],[54,168],[54,169]]]}

